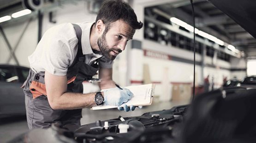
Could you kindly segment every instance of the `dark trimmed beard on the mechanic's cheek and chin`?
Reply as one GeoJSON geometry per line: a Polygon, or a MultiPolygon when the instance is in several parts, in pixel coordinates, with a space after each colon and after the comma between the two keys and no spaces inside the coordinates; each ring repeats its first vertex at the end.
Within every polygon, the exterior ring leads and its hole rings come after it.
{"type": "Polygon", "coordinates": [[[105,56],[108,60],[114,60],[116,58],[115,55],[111,55],[110,52],[111,51],[116,51],[121,53],[122,50],[121,49],[117,49],[117,48],[109,48],[109,46],[107,45],[107,41],[106,41],[106,33],[105,31],[103,32],[101,38],[98,38],[97,44],[101,50],[101,53],[103,56],[105,56]]]}

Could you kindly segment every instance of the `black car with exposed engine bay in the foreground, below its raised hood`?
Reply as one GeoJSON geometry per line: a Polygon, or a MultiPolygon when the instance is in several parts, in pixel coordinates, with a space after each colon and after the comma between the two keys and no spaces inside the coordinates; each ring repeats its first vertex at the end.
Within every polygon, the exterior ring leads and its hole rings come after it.
{"type": "Polygon", "coordinates": [[[255,143],[256,88],[225,88],[196,96],[190,105],[95,121],[71,132],[55,123],[10,143],[255,143]],[[119,126],[129,126],[120,133],[119,126]],[[29,142],[27,142],[29,141],[29,142]]]}

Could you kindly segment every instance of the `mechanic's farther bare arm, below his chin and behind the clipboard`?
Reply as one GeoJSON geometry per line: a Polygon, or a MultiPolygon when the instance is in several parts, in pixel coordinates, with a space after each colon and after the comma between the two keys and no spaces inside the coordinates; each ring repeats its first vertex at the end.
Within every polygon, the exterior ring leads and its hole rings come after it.
{"type": "Polygon", "coordinates": [[[99,78],[102,79],[99,82],[99,86],[101,89],[106,88],[115,88],[115,82],[112,80],[112,68],[100,68],[99,70],[99,78]]]}

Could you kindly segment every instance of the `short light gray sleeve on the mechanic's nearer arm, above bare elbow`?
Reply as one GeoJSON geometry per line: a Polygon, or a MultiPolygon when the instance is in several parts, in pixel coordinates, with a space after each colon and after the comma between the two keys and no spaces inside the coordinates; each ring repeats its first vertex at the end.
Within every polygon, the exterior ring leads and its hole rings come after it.
{"type": "Polygon", "coordinates": [[[69,40],[58,31],[46,32],[39,44],[44,47],[42,50],[41,64],[45,71],[56,76],[65,76],[70,64],[72,55],[69,40]]]}

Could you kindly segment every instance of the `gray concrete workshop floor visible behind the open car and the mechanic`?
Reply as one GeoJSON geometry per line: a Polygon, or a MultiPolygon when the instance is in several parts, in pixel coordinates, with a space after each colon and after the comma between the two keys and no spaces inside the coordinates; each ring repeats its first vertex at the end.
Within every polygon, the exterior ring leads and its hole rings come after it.
{"type": "MultiPolygon", "coordinates": [[[[163,109],[170,109],[176,105],[187,104],[188,101],[183,102],[158,102],[153,103],[150,106],[144,106],[142,109],[136,109],[132,112],[119,111],[117,109],[109,110],[90,110],[83,109],[83,118],[81,119],[81,125],[95,122],[97,120],[108,120],[122,117],[142,115],[145,112],[157,111],[163,109]]],[[[25,116],[12,117],[0,119],[0,143],[6,143],[7,141],[17,137],[18,135],[29,131],[25,116]]]]}

